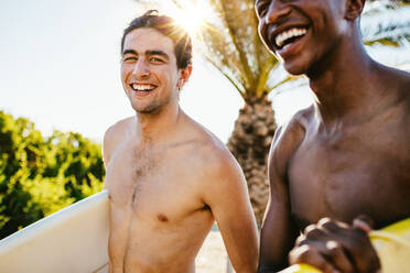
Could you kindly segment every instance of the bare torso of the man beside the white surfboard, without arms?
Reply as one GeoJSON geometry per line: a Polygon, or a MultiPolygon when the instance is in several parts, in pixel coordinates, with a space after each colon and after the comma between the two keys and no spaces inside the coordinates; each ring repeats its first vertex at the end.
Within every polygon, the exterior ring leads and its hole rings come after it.
{"type": "MultiPolygon", "coordinates": [[[[201,139],[166,145],[125,140],[107,166],[109,251],[123,272],[193,272],[214,222],[201,199],[201,139]],[[143,148],[141,148],[143,146],[143,148]]],[[[120,271],[122,272],[122,271],[120,271]]]]}

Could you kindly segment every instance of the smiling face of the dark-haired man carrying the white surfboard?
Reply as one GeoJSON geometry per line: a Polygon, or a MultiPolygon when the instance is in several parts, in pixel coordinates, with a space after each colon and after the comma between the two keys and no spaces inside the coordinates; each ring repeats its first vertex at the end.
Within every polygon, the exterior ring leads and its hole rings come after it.
{"type": "Polygon", "coordinates": [[[171,101],[177,103],[174,44],[171,39],[150,28],[127,34],[123,43],[121,81],[132,108],[151,113],[171,101]]]}

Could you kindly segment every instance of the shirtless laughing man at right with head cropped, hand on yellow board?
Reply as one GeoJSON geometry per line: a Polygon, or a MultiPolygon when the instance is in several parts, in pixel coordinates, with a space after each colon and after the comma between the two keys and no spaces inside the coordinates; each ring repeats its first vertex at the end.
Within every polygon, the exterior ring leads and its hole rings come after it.
{"type": "Polygon", "coordinates": [[[290,74],[308,76],[315,97],[271,145],[259,272],[287,266],[301,230],[291,263],[375,272],[370,228],[357,217],[377,229],[410,217],[410,75],[365,52],[364,4],[256,1],[263,43],[290,74]]]}

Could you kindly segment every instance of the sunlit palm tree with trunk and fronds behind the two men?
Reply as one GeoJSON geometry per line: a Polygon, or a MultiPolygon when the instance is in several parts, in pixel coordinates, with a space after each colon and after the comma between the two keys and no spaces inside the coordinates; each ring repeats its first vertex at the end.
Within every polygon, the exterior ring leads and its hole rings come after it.
{"type": "MultiPolygon", "coordinates": [[[[228,148],[239,162],[248,182],[250,200],[258,223],[261,223],[269,195],[267,157],[277,129],[271,101],[272,92],[280,85],[295,79],[279,69],[278,59],[261,43],[253,10],[255,0],[170,0],[183,9],[193,2],[204,2],[215,17],[196,33],[203,57],[226,77],[245,101],[228,140],[228,148]]],[[[137,0],[144,8],[159,1],[137,0]]],[[[378,1],[376,1],[378,2],[378,1]]],[[[401,3],[406,2],[400,1],[401,3]]],[[[384,4],[388,7],[388,4],[384,4]]],[[[376,9],[371,10],[376,12],[376,9]]],[[[409,22],[407,22],[407,25],[409,22]]],[[[406,31],[406,28],[401,30],[406,31]]],[[[407,31],[404,39],[409,40],[407,31]]],[[[369,36],[371,36],[371,31],[369,36]]],[[[384,29],[380,34],[386,33],[384,29]]],[[[374,35],[370,43],[395,42],[390,36],[374,35]],[[386,41],[387,41],[386,40],[386,41]]],[[[396,44],[399,40],[396,41],[396,44]]],[[[392,43],[393,44],[393,43],[392,43]]]]}

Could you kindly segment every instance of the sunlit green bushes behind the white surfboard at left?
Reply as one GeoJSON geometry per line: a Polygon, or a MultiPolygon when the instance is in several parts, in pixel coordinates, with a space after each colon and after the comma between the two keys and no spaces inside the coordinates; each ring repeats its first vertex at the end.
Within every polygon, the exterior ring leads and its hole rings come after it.
{"type": "Polygon", "coordinates": [[[0,111],[0,238],[101,190],[100,145],[0,111]]]}

